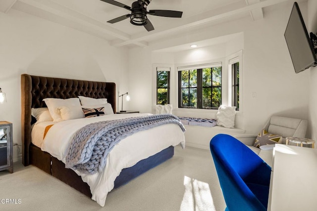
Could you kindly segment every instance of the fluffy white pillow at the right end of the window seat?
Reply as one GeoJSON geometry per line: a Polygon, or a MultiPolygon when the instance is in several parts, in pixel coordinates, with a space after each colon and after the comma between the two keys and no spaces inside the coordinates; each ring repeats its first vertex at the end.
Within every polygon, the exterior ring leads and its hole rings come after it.
{"type": "Polygon", "coordinates": [[[217,125],[234,128],[234,119],[236,115],[236,107],[235,106],[219,106],[217,117],[217,125]]]}

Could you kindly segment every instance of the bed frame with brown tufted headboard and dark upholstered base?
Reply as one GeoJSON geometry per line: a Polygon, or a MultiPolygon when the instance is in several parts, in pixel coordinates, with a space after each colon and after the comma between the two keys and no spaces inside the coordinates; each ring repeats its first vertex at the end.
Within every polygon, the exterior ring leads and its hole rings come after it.
{"type": "MultiPolygon", "coordinates": [[[[31,138],[32,126],[34,125],[36,120],[31,115],[31,108],[47,107],[46,103],[43,101],[43,99],[45,98],[68,99],[68,98],[76,98],[78,96],[85,96],[85,97],[91,97],[91,98],[106,98],[107,102],[111,105],[111,108],[113,110],[114,114],[112,116],[113,117],[116,116],[116,118],[118,118],[120,115],[122,115],[122,114],[115,114],[116,113],[116,89],[115,89],[114,83],[50,78],[50,77],[42,77],[42,76],[31,76],[27,74],[21,75],[22,163],[24,166],[34,165],[38,167],[39,169],[44,170],[45,172],[53,175],[54,177],[68,184],[69,186],[75,188],[81,193],[97,201],[97,203],[100,204],[101,206],[104,206],[105,201],[102,201],[102,200],[100,201],[96,199],[96,197],[94,196],[94,192],[92,191],[93,189],[88,184],[89,180],[87,181],[87,179],[85,179],[86,178],[85,176],[79,174],[77,171],[75,172],[72,169],[65,168],[65,164],[64,162],[62,162],[61,158],[59,158],[58,156],[52,156],[51,154],[53,153],[50,154],[46,151],[43,151],[40,147],[32,143],[32,138],[31,138]]],[[[131,115],[136,115],[136,114],[131,114],[131,115]]],[[[120,116],[120,118],[123,118],[123,116],[120,116]]],[[[57,127],[57,126],[54,125],[53,127],[57,127]]],[[[50,136],[49,135],[51,132],[50,130],[47,133],[48,134],[47,136],[50,136]]],[[[157,127],[156,130],[159,130],[159,127],[157,127]]],[[[144,137],[146,137],[145,134],[138,132],[138,134],[139,133],[140,133],[140,136],[137,136],[135,134],[133,134],[132,136],[135,136],[138,138],[138,137],[142,137],[143,135],[144,137]]],[[[173,135],[169,135],[169,136],[173,136],[173,135]]],[[[166,137],[164,137],[164,139],[166,139],[166,137]]],[[[182,143],[184,146],[185,138],[183,133],[182,135],[178,133],[178,135],[175,135],[174,139],[179,139],[177,140],[177,143],[182,143]]],[[[158,166],[159,164],[161,164],[162,162],[170,159],[174,155],[175,145],[177,144],[174,140],[173,144],[168,145],[164,149],[159,149],[159,148],[151,149],[150,151],[157,150],[157,152],[155,153],[151,152],[153,155],[151,154],[150,156],[147,156],[144,159],[138,160],[138,162],[130,164],[130,166],[128,166],[127,168],[123,168],[122,170],[120,170],[113,184],[110,185],[110,189],[117,188],[129,182],[131,179],[137,177],[138,175],[144,173],[145,171],[152,169],[158,166]]],[[[115,150],[112,150],[112,151],[115,151],[115,150]]],[[[99,188],[103,189],[104,187],[99,187],[99,188]]],[[[105,197],[105,200],[106,200],[106,197],[105,197]]]]}

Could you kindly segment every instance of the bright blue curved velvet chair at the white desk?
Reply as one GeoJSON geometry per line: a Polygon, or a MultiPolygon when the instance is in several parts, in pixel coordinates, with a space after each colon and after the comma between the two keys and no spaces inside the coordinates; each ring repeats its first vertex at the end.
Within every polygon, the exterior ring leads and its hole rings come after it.
{"type": "Polygon", "coordinates": [[[210,142],[226,211],[266,211],[271,168],[238,139],[217,134],[210,142]]]}

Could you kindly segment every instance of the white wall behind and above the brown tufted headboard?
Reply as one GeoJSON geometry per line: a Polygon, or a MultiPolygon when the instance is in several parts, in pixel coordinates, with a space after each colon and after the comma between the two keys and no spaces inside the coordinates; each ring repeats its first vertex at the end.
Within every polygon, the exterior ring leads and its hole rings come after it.
{"type": "MultiPolygon", "coordinates": [[[[117,91],[128,87],[124,48],[14,9],[0,12],[0,30],[0,87],[7,96],[7,103],[0,105],[0,120],[13,123],[13,142],[19,145],[22,73],[115,82],[117,91]]],[[[19,149],[14,147],[14,161],[19,149]]]]}

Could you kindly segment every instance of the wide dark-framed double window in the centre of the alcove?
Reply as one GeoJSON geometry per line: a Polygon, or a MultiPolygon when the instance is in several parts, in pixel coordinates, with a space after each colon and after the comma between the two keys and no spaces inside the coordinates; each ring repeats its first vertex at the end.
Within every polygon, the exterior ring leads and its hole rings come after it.
{"type": "Polygon", "coordinates": [[[178,107],[217,109],[221,105],[221,63],[178,68],[178,107]]]}

